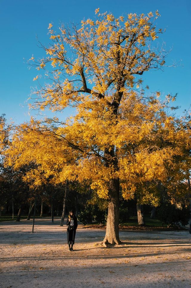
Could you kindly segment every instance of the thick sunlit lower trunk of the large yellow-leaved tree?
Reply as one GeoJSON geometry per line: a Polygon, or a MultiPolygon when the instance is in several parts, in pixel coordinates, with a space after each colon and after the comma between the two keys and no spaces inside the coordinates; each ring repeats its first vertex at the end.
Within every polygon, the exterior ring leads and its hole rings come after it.
{"type": "Polygon", "coordinates": [[[109,205],[107,215],[106,233],[103,241],[104,247],[108,244],[120,244],[119,240],[119,179],[109,182],[109,205]]]}

